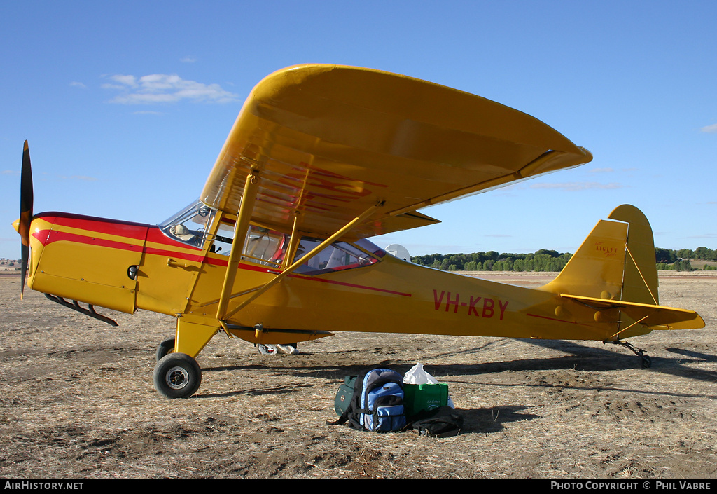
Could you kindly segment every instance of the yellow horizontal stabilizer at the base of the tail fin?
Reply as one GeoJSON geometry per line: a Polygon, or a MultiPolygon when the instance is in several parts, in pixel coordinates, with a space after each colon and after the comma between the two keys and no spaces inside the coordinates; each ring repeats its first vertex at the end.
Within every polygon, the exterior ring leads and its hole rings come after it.
{"type": "Polygon", "coordinates": [[[619,309],[628,317],[650,327],[653,330],[693,330],[705,327],[705,322],[693,310],[675,309],[662,305],[641,304],[640,302],[625,302],[622,300],[597,299],[594,297],[580,297],[578,295],[561,294],[564,299],[570,299],[597,311],[606,309],[619,309]]]}

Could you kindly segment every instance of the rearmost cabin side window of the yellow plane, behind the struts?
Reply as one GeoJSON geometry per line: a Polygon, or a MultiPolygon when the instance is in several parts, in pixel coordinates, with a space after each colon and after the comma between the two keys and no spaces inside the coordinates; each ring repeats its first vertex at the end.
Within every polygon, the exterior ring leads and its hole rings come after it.
{"type": "MultiPolygon", "coordinates": [[[[323,240],[320,238],[303,237],[299,243],[294,262],[298,261],[305,253],[313,251],[323,240]]],[[[369,256],[350,243],[334,242],[310,258],[306,264],[296,269],[302,274],[322,274],[343,269],[360,268],[377,262],[377,259],[369,256]]]]}

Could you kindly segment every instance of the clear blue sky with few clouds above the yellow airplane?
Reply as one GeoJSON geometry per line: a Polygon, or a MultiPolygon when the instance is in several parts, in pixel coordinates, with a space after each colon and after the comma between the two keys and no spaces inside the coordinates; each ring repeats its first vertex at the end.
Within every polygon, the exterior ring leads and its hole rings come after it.
{"type": "Polygon", "coordinates": [[[412,255],[574,252],[617,205],[717,248],[717,2],[0,1],[0,257],[34,211],[159,223],[194,200],[265,75],[305,62],[430,80],[529,113],[593,162],[424,213],[412,255]]]}

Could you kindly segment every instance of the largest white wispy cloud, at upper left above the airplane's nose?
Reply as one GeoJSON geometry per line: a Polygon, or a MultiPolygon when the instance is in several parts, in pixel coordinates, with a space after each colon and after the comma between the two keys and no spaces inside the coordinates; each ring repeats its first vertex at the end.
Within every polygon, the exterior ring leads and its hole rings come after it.
{"type": "Polygon", "coordinates": [[[203,84],[184,80],[176,74],[151,74],[136,78],[134,75],[110,75],[110,83],[103,88],[120,91],[110,103],[141,105],[198,101],[231,103],[239,96],[222,89],[219,84],[203,84]]]}

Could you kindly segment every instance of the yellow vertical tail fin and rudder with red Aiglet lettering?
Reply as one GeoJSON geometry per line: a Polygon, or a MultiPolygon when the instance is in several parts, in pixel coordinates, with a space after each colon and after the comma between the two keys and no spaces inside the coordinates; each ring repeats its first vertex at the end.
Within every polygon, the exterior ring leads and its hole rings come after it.
{"type": "Polygon", "coordinates": [[[608,218],[595,225],[558,277],[544,289],[659,304],[650,223],[642,211],[631,205],[618,206],[608,218]]]}

